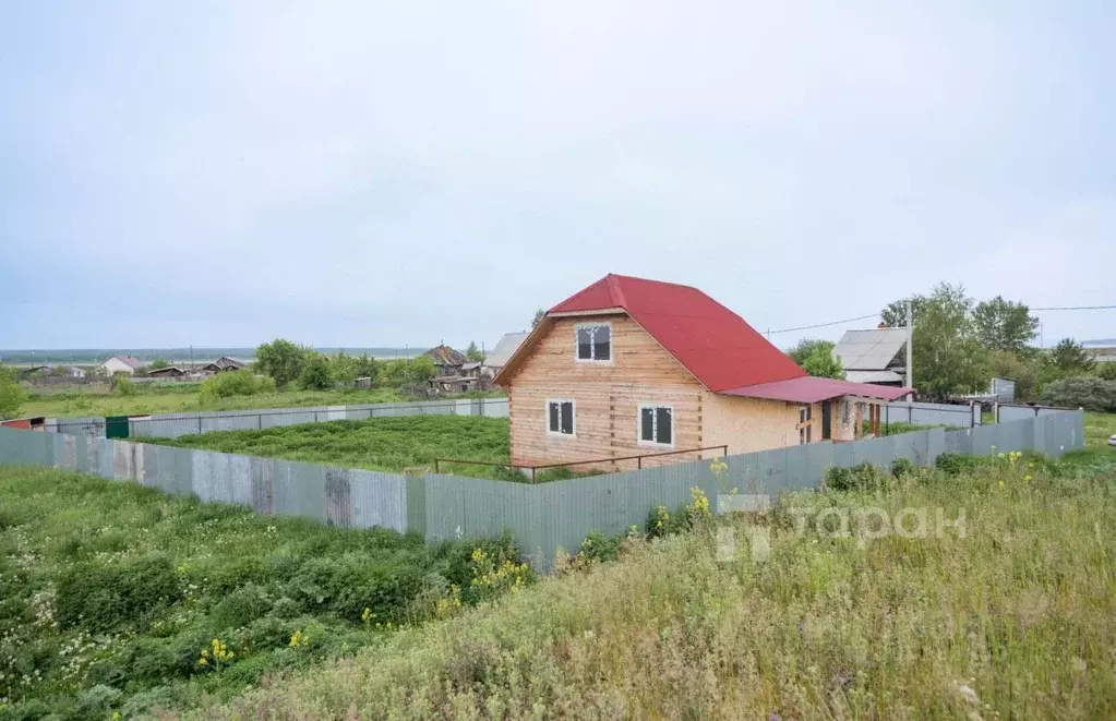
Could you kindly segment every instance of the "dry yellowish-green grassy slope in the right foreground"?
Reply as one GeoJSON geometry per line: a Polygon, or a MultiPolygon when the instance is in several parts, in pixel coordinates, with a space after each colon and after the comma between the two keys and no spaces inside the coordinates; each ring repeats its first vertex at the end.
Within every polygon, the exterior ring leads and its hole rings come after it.
{"type": "Polygon", "coordinates": [[[1116,718],[1114,464],[1093,448],[923,470],[873,493],[790,497],[716,533],[710,520],[633,538],[617,563],[185,715],[1116,718]],[[800,532],[790,512],[864,507],[924,509],[930,532],[800,532]],[[937,509],[964,515],[964,537],[935,531],[937,509]]]}

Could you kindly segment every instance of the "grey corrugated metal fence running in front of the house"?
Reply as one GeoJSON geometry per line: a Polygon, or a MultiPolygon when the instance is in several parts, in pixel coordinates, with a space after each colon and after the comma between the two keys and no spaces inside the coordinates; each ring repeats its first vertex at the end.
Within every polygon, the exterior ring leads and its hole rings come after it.
{"type": "Polygon", "coordinates": [[[721,479],[709,461],[531,486],[478,478],[407,477],[213,451],[0,427],[0,463],[62,468],[132,481],[203,501],[250,506],[261,513],[304,516],[344,528],[382,526],[429,540],[499,533],[508,528],[523,552],[547,567],[556,549],[576,549],[590,531],[643,526],[656,506],[675,508],[701,488],[777,494],[814,489],[831,467],[888,465],[905,458],[931,465],[944,452],[1033,450],[1059,456],[1085,442],[1079,411],[963,431],[931,429],[855,443],[810,443],[728,456],[721,479]]]}

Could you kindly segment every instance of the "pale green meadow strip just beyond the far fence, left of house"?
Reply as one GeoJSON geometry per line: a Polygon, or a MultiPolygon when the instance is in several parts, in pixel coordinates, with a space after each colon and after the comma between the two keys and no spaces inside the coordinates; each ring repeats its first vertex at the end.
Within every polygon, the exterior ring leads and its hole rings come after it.
{"type": "MultiPolygon", "coordinates": [[[[56,393],[32,396],[20,406],[22,416],[73,417],[86,415],[137,415],[192,411],[250,411],[308,405],[358,405],[414,401],[393,388],[371,391],[282,391],[203,401],[200,384],[135,384],[136,395],[114,393],[56,393]]],[[[475,395],[475,394],[471,394],[475,395]]],[[[490,394],[499,395],[499,394],[490,394]]],[[[446,396],[454,397],[454,396],[446,396]]]]}

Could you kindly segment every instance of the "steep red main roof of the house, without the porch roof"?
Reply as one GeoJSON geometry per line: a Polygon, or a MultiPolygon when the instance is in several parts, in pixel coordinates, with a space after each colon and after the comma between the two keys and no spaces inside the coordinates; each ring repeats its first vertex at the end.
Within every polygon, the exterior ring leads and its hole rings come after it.
{"type": "Polygon", "coordinates": [[[710,391],[806,375],[743,318],[690,286],[608,275],[550,313],[612,308],[627,311],[710,391]]]}

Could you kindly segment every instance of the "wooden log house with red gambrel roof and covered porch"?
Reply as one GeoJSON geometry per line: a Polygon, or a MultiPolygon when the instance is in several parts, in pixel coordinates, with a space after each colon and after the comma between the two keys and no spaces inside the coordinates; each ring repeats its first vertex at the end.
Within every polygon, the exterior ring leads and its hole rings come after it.
{"type": "Polygon", "coordinates": [[[497,374],[511,463],[628,470],[822,440],[852,441],[911,393],[810,377],[696,288],[608,275],[551,308],[497,374]]]}

